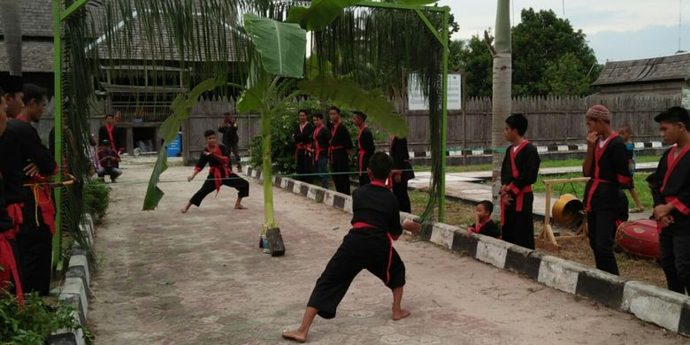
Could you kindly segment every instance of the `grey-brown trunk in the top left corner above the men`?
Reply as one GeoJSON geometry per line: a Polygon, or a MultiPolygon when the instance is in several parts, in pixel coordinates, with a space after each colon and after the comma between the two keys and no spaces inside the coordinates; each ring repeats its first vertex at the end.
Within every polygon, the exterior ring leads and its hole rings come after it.
{"type": "Polygon", "coordinates": [[[4,46],[10,75],[21,75],[21,20],[19,1],[0,0],[0,21],[3,23],[4,46]]]}

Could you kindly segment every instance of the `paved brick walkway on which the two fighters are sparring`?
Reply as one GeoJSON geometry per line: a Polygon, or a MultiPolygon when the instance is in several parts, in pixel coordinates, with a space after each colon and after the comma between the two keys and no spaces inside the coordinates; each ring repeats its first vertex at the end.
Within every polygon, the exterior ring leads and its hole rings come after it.
{"type": "MultiPolygon", "coordinates": [[[[178,213],[201,181],[162,184],[157,211],[142,212],[150,165],[125,165],[109,215],[97,229],[100,271],[89,323],[96,344],[276,344],[295,327],[314,282],[349,229],[350,216],[274,189],[288,252],[257,249],[261,187],[251,182],[246,211],[234,190],[178,213]]],[[[181,180],[172,167],[163,180],[181,180]]],[[[201,177],[201,176],[200,176],[201,177]]],[[[316,344],[681,344],[687,339],[472,258],[403,238],[403,306],[389,319],[391,296],[363,272],[333,320],[317,318],[316,344]]]]}

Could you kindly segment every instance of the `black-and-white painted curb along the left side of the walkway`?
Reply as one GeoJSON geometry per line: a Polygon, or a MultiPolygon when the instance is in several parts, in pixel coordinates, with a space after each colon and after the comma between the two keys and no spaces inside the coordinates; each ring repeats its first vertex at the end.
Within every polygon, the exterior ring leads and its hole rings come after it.
{"type": "MultiPolygon", "coordinates": [[[[89,244],[94,242],[94,220],[90,214],[86,214],[80,221],[79,229],[88,239],[89,244]]],[[[65,281],[59,288],[58,301],[74,308],[73,317],[81,326],[87,325],[88,318],[88,290],[91,283],[91,263],[88,262],[86,249],[82,249],[79,243],[74,243],[72,257],[70,257],[65,281]]],[[[81,329],[72,331],[68,329],[58,330],[50,335],[50,345],[84,345],[84,333],[81,329]]]]}

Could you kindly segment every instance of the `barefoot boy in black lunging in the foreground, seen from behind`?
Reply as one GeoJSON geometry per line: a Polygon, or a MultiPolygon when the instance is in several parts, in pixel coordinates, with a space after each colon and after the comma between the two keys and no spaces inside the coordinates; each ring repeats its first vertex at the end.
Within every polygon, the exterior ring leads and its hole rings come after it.
{"type": "Polygon", "coordinates": [[[295,331],[283,332],[283,338],[304,342],[317,315],[334,318],[350,283],[363,269],[372,272],[393,291],[392,318],[410,316],[410,311],[400,306],[405,265],[393,248],[393,241],[403,234],[403,229],[418,233],[421,226],[409,219],[401,226],[398,202],[384,184],[392,168],[393,160],[387,154],[377,152],[372,156],[366,171],[372,181],[355,189],[352,196],[352,229],[318,278],[302,324],[295,331]]]}

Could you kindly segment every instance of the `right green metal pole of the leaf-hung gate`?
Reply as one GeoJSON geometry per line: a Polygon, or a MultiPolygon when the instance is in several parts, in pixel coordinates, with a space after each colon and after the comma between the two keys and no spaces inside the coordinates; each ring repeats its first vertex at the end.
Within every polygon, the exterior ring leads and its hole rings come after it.
{"type": "Polygon", "coordinates": [[[443,47],[443,103],[441,103],[441,190],[439,199],[439,221],[446,220],[446,141],[448,140],[448,56],[449,56],[449,7],[444,7],[441,29],[441,46],[443,47]]]}

